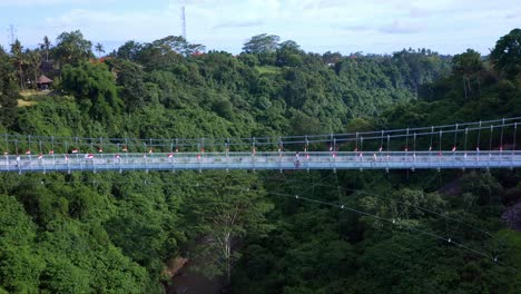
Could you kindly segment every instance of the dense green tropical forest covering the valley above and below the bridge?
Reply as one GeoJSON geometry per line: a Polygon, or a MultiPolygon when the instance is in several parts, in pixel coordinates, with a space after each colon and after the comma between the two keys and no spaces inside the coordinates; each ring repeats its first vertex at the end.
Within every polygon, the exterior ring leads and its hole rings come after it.
{"type": "MultiPolygon", "coordinates": [[[[238,55],[177,36],[111,52],[79,30],[41,39],[0,48],[6,156],[26,151],[7,135],[277,138],[521,117],[521,29],[453,56],[316,53],[268,33],[238,55]]],[[[521,293],[521,170],[0,173],[0,293],[521,293]]]]}

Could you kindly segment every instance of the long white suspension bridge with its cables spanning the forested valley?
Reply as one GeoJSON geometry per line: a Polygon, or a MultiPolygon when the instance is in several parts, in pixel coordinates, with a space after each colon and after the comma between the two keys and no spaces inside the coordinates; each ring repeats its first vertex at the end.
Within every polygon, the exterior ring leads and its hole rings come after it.
{"type": "Polygon", "coordinates": [[[518,168],[520,120],[517,117],[276,138],[135,139],[4,134],[0,171],[518,168]]]}

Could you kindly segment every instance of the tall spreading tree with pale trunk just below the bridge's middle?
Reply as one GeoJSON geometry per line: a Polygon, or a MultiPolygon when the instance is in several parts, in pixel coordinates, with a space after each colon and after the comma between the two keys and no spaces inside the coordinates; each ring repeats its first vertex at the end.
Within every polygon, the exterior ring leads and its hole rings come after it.
{"type": "Polygon", "coordinates": [[[190,195],[186,214],[194,233],[198,254],[205,261],[201,271],[209,276],[232,278],[232,265],[239,257],[238,242],[247,234],[266,234],[272,226],[265,214],[273,207],[262,196],[255,176],[234,173],[199,178],[204,187],[190,195]]]}

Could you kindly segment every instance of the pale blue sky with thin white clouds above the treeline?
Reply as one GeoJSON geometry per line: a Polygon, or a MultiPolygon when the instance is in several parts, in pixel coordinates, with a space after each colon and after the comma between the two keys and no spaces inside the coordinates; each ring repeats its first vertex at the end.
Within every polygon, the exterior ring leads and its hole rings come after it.
{"type": "MultiPolygon", "coordinates": [[[[0,0],[0,45],[10,42],[10,24],[26,47],[77,29],[108,50],[127,40],[179,36],[181,2],[0,0]]],[[[521,27],[521,0],[186,0],[186,18],[188,41],[233,53],[266,32],[321,53],[412,47],[486,55],[501,36],[521,27]]]]}

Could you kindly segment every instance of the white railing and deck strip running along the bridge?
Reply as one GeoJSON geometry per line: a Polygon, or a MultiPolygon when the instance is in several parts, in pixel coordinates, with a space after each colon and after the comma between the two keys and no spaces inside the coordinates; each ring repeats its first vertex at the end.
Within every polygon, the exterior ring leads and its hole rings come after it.
{"type": "Polygon", "coordinates": [[[0,171],[520,167],[519,150],[4,155],[0,171]]]}

